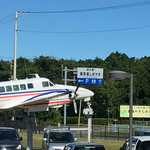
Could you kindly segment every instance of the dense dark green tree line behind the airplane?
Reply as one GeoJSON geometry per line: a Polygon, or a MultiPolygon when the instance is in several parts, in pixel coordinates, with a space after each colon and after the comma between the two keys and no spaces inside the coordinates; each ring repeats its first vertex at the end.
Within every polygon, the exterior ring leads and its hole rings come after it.
{"type": "MultiPolygon", "coordinates": [[[[0,60],[0,81],[11,78],[13,63],[0,60]]],[[[41,77],[49,78],[54,83],[64,84],[62,80],[62,66],[68,69],[76,67],[103,68],[103,85],[82,85],[94,92],[91,99],[94,118],[119,118],[120,105],[129,104],[129,79],[113,81],[108,73],[121,70],[133,74],[133,104],[150,105],[150,57],[129,58],[119,52],[111,53],[105,60],[95,59],[73,60],[56,59],[51,56],[40,56],[29,60],[20,57],[17,59],[17,78],[26,78],[28,74],[38,73],[41,77]]],[[[69,74],[68,78],[72,78],[69,74]]],[[[69,82],[68,84],[76,85],[69,82]]],[[[77,103],[79,105],[79,103],[77,103]]],[[[82,109],[86,106],[83,103],[82,109]]],[[[79,107],[79,106],[78,106],[79,107]]],[[[63,108],[59,110],[63,115],[63,108]]],[[[43,114],[43,112],[41,113],[43,114]]],[[[67,116],[78,116],[73,111],[72,103],[67,107],[67,116]]]]}

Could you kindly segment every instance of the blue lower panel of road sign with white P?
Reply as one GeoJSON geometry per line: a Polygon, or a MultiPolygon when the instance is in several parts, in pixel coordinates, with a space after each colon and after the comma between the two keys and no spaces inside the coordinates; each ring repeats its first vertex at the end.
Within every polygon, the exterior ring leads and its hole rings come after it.
{"type": "Polygon", "coordinates": [[[77,78],[77,84],[102,85],[103,79],[100,79],[100,78],[77,78]]]}

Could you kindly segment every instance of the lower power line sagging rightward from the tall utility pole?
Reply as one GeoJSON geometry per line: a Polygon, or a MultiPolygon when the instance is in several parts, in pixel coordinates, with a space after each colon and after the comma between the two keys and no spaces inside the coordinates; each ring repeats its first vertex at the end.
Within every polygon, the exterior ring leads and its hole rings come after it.
{"type": "Polygon", "coordinates": [[[52,31],[36,31],[36,30],[17,30],[19,32],[28,32],[28,33],[45,33],[45,34],[84,34],[84,33],[100,33],[100,32],[115,32],[115,31],[128,31],[128,30],[138,30],[150,28],[148,26],[137,26],[137,27],[128,27],[128,28],[119,28],[119,29],[105,29],[105,30],[93,30],[93,31],[62,31],[62,32],[52,32],[52,31]]]}

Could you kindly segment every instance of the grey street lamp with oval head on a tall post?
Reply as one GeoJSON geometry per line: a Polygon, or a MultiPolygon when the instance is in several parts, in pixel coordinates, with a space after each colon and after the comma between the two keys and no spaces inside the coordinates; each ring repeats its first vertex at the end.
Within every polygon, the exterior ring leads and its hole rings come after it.
{"type": "Polygon", "coordinates": [[[123,80],[130,78],[130,107],[129,107],[129,150],[132,150],[132,112],[133,112],[133,74],[124,71],[111,71],[109,78],[113,80],[123,80]]]}

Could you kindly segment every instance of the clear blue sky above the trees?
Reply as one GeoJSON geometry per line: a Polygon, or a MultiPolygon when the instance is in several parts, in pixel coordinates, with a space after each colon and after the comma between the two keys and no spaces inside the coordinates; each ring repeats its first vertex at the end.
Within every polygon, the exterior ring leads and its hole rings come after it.
{"type": "Polygon", "coordinates": [[[145,1],[1,0],[0,59],[13,59],[16,11],[30,12],[29,16],[18,15],[17,58],[33,59],[43,55],[57,59],[105,59],[116,51],[135,58],[150,56],[150,1],[110,9],[145,1]],[[94,8],[104,9],[43,13],[94,8]]]}

